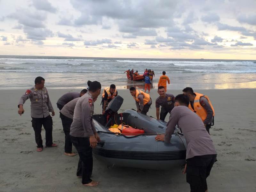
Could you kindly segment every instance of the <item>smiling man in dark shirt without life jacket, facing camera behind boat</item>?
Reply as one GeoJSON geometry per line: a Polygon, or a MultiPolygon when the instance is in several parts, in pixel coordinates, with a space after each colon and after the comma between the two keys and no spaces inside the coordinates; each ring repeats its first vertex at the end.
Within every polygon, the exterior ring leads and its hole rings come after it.
{"type": "Polygon", "coordinates": [[[161,106],[160,120],[164,121],[167,113],[171,113],[174,108],[174,95],[166,93],[163,86],[158,87],[158,94],[156,99],[156,119],[159,119],[159,108],[161,106]]]}

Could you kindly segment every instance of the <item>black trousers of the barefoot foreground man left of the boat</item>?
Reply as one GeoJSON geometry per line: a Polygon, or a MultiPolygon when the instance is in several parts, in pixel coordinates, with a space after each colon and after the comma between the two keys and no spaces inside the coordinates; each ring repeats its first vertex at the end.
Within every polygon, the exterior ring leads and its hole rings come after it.
{"type": "Polygon", "coordinates": [[[90,178],[92,176],[93,167],[90,139],[89,137],[73,137],[71,135],[70,138],[79,155],[76,175],[81,176],[82,174],[82,184],[90,183],[92,182],[90,178]]]}

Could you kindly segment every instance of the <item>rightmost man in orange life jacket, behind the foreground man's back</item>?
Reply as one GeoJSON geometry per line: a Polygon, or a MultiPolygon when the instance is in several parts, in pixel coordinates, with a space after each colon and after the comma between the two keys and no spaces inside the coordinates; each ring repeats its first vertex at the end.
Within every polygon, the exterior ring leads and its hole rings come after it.
{"type": "Polygon", "coordinates": [[[191,87],[186,87],[182,91],[183,94],[189,97],[190,103],[188,108],[202,119],[207,132],[210,134],[210,128],[215,112],[209,97],[201,93],[194,92],[191,87]]]}

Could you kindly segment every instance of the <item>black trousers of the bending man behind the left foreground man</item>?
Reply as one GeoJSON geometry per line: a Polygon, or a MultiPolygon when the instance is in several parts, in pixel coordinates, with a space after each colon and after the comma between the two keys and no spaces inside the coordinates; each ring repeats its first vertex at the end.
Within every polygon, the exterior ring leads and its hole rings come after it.
{"type": "Polygon", "coordinates": [[[60,118],[62,122],[63,131],[65,133],[65,152],[72,153],[72,141],[70,139],[69,133],[73,119],[64,116],[62,113],[60,113],[60,118]]]}

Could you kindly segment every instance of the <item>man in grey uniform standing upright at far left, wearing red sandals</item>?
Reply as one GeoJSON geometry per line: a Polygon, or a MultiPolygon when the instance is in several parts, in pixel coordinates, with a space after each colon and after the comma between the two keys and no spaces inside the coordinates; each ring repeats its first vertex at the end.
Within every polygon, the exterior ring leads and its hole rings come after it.
{"type": "Polygon", "coordinates": [[[35,131],[35,138],[38,152],[43,150],[43,140],[41,136],[42,125],[45,129],[45,145],[46,147],[56,147],[55,143],[52,143],[52,116],[55,115],[52,108],[47,89],[44,87],[44,78],[36,77],[35,86],[28,89],[24,95],[21,96],[18,105],[18,113],[20,116],[24,113],[23,104],[27,99],[31,101],[31,117],[32,127],[35,131]]]}

